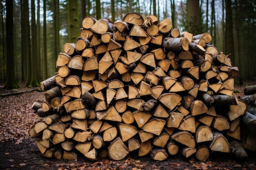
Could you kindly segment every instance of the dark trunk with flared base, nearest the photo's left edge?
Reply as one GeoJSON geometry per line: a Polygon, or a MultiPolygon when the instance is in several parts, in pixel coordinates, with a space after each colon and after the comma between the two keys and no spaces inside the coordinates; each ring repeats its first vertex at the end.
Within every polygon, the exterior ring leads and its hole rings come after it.
{"type": "Polygon", "coordinates": [[[7,74],[6,84],[4,88],[18,88],[18,83],[15,79],[14,67],[14,27],[13,27],[13,1],[6,1],[6,49],[8,51],[7,57],[7,74]]]}

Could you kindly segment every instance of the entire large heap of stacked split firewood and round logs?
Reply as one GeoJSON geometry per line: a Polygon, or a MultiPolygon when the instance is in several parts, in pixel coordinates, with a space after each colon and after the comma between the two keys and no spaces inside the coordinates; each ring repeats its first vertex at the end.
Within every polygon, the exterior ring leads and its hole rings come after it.
{"type": "Polygon", "coordinates": [[[45,99],[32,109],[45,119],[30,136],[56,159],[180,153],[204,161],[231,152],[242,146],[247,106],[233,93],[238,68],[209,42],[209,33],[180,32],[154,15],[85,17],[81,36],[58,55],[58,72],[40,84],[45,99]]]}

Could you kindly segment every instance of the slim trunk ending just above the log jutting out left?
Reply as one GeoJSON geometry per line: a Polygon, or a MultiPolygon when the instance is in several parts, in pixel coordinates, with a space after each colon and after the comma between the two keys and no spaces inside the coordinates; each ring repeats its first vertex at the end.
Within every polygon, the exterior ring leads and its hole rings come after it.
{"type": "Polygon", "coordinates": [[[43,1],[43,12],[43,79],[47,79],[46,0],[43,1]]]}

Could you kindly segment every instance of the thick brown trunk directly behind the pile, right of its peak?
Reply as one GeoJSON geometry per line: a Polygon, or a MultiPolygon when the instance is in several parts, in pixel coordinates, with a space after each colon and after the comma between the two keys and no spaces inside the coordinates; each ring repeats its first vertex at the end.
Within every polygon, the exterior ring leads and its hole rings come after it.
{"type": "Polygon", "coordinates": [[[202,33],[199,0],[187,0],[188,31],[194,35],[202,33]]]}

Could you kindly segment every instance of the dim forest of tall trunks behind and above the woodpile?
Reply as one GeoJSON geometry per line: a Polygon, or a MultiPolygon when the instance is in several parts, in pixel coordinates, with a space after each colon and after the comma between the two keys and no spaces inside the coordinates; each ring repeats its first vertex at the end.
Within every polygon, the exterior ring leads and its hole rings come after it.
{"type": "Polygon", "coordinates": [[[236,84],[256,80],[255,0],[0,0],[0,84],[39,86],[52,77],[58,53],[75,43],[82,20],[120,20],[126,13],[169,18],[173,28],[209,32],[211,44],[228,55],[236,84]]]}

